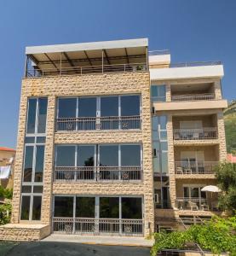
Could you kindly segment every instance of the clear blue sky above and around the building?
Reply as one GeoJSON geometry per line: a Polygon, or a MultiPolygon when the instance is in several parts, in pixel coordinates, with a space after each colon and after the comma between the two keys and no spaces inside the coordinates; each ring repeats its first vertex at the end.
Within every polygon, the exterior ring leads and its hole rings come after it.
{"type": "Polygon", "coordinates": [[[235,0],[8,0],[0,2],[0,146],[15,147],[26,46],[149,38],[171,61],[222,61],[236,98],[235,0]]]}

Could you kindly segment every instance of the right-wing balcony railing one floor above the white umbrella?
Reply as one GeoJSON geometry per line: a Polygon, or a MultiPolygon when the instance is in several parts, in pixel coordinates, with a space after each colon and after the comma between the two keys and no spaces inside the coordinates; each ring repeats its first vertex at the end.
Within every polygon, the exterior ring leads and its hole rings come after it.
{"type": "Polygon", "coordinates": [[[176,174],[213,174],[217,161],[176,161],[176,174]]]}

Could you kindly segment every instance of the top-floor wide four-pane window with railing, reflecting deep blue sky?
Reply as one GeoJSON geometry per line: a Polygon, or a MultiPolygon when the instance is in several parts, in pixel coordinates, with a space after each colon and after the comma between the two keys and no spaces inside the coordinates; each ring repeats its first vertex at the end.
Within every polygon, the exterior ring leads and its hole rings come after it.
{"type": "Polygon", "coordinates": [[[140,129],[140,101],[138,95],[59,98],[57,131],[140,129]]]}

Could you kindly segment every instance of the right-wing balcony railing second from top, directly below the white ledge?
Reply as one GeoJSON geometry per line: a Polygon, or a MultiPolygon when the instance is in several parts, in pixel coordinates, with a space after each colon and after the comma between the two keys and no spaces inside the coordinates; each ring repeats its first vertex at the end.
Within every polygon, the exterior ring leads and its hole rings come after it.
{"type": "Polygon", "coordinates": [[[200,129],[174,129],[175,140],[206,140],[216,138],[216,127],[206,127],[200,129]]]}

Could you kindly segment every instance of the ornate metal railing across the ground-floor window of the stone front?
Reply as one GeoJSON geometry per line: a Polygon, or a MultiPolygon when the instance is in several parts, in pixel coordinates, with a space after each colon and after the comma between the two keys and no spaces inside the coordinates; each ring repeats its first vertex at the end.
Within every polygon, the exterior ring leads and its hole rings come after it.
{"type": "Polygon", "coordinates": [[[142,219],[53,218],[55,233],[79,235],[143,236],[142,219]]]}

